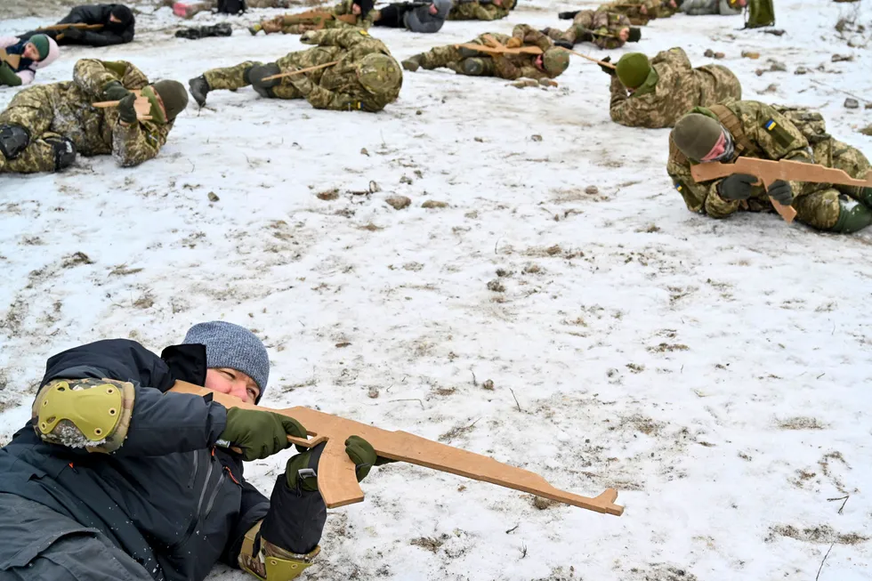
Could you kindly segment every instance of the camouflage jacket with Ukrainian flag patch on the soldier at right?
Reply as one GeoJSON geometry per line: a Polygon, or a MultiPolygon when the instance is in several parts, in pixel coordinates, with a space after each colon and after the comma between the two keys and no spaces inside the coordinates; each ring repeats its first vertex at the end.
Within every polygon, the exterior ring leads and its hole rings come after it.
{"type": "MultiPolygon", "coordinates": [[[[726,107],[739,117],[742,131],[750,145],[750,149],[741,152],[742,156],[773,160],[792,159],[807,163],[813,161],[809,141],[803,132],[776,109],[759,101],[733,101],[726,104],[726,107]]],[[[697,108],[693,110],[717,118],[709,109],[697,108]]],[[[735,157],[739,157],[738,151],[739,147],[737,146],[735,157]]],[[[675,190],[682,194],[684,204],[691,212],[707,214],[713,218],[723,218],[740,209],[752,211],[771,209],[771,202],[762,186],[755,186],[751,198],[747,200],[731,200],[721,198],[718,194],[718,186],[723,180],[694,182],[690,174],[690,166],[696,163],[684,157],[672,140],[669,141],[669,160],[666,162],[666,173],[669,173],[675,190]]],[[[795,196],[820,189],[819,184],[808,185],[810,187],[805,188],[804,182],[790,182],[795,196]]]]}

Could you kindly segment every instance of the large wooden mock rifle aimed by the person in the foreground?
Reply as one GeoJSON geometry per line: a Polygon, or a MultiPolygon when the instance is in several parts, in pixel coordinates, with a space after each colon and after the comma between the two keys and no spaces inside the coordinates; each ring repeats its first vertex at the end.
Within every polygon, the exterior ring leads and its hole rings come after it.
{"type": "Polygon", "coordinates": [[[459,448],[453,448],[432,440],[426,440],[408,432],[388,432],[367,424],[360,424],[343,417],[331,416],[311,408],[270,409],[246,403],[226,393],[207,390],[193,383],[175,382],[175,393],[190,393],[204,398],[212,398],[225,408],[245,408],[269,411],[282,416],[293,417],[303,424],[314,438],[303,439],[288,436],[287,440],[305,448],[312,448],[327,442],[318,463],[318,489],[328,508],[359,503],[363,500],[363,490],[355,476],[354,463],[345,454],[345,440],[357,435],[367,440],[375,448],[378,456],[417,464],[440,472],[450,472],[474,480],[483,480],[506,488],[544,496],[561,503],[572,504],[590,511],[620,516],[624,507],[615,504],[618,492],[607,488],[595,497],[580,496],[566,492],[552,485],[534,472],[497,462],[488,456],[481,456],[459,448]]]}

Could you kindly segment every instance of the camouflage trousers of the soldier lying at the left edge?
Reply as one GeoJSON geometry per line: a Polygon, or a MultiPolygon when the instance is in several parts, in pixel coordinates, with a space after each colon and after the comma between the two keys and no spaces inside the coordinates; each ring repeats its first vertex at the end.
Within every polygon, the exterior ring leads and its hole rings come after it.
{"type": "Polygon", "coordinates": [[[0,173],[53,172],[54,147],[50,140],[60,140],[59,133],[49,132],[54,117],[49,86],[37,85],[12,97],[9,107],[0,113],[0,125],[20,125],[28,130],[30,144],[15,159],[0,154],[0,173]]]}

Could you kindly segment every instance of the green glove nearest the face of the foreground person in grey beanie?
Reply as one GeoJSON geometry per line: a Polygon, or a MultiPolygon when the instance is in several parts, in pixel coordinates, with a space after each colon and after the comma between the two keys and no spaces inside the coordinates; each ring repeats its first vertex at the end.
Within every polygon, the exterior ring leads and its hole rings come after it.
{"type": "Polygon", "coordinates": [[[251,462],[278,454],[290,446],[287,436],[305,438],[306,429],[294,418],[281,414],[230,408],[219,438],[229,441],[231,447],[242,448],[242,459],[251,462]]]}

